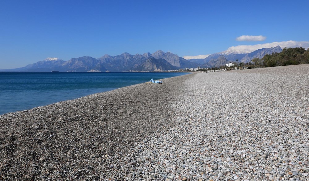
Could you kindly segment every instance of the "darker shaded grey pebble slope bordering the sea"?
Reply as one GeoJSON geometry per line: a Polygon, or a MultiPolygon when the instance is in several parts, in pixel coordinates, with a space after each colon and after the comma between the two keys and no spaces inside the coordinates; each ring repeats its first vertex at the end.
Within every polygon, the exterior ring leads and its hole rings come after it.
{"type": "Polygon", "coordinates": [[[174,124],[170,104],[191,76],[1,115],[1,179],[103,172],[105,159],[125,154],[133,141],[174,124]]]}

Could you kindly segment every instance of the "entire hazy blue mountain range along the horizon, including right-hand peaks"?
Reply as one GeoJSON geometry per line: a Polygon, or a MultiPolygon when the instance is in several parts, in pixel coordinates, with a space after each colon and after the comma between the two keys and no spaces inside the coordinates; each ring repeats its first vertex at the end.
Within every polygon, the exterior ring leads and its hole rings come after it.
{"type": "Polygon", "coordinates": [[[171,52],[158,50],[153,54],[131,55],[122,53],[117,56],[104,55],[98,59],[83,56],[64,61],[57,58],[47,58],[43,61],[30,64],[22,68],[4,69],[11,72],[126,72],[126,71],[167,71],[183,68],[211,68],[219,67],[238,59],[249,62],[253,58],[263,58],[266,54],[281,52],[281,47],[262,48],[253,52],[223,51],[214,53],[205,59],[186,60],[171,52]]]}

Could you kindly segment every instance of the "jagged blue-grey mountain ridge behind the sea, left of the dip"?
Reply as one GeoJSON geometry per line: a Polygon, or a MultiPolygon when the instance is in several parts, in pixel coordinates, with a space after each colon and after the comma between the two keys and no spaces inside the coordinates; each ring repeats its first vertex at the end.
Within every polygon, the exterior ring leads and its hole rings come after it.
{"type": "Polygon", "coordinates": [[[199,64],[190,62],[171,52],[158,50],[153,54],[131,55],[122,53],[117,56],[104,55],[98,59],[83,56],[68,61],[47,58],[43,61],[22,68],[1,71],[15,72],[126,72],[126,71],[167,71],[186,67],[197,67],[199,64]]]}

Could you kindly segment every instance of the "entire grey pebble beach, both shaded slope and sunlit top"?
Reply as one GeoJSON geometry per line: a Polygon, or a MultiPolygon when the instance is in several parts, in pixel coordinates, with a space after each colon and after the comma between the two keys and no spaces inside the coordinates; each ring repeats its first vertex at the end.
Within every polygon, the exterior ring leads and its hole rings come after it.
{"type": "Polygon", "coordinates": [[[309,64],[194,73],[0,116],[0,180],[309,180],[309,64]]]}

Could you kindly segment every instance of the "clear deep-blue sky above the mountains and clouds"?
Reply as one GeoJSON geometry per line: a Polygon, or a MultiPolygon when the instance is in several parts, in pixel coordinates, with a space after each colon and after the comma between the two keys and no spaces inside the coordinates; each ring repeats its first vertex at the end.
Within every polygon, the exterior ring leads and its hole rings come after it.
{"type": "Polygon", "coordinates": [[[308,0],[0,0],[0,69],[159,49],[183,57],[290,40],[309,47],[308,7],[308,0]]]}

